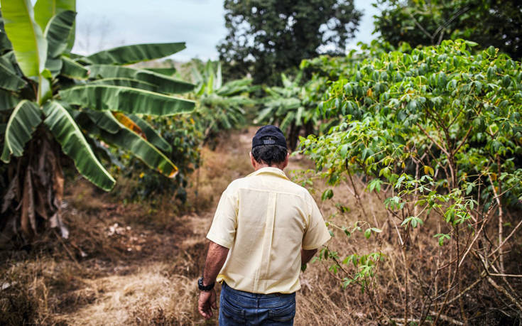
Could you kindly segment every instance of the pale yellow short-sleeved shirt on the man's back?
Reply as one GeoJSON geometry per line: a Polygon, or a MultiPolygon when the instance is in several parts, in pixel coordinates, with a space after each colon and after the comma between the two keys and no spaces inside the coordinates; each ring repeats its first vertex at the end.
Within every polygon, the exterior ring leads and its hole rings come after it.
{"type": "Polygon", "coordinates": [[[223,192],[207,239],[230,249],[217,281],[251,293],[293,293],[300,249],[317,249],[330,233],[308,190],[278,168],[261,168],[223,192]]]}

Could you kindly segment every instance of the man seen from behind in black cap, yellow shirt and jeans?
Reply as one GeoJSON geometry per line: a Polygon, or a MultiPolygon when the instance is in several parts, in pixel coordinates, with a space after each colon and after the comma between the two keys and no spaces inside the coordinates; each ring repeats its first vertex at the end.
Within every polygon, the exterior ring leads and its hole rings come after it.
{"type": "Polygon", "coordinates": [[[217,309],[219,325],[293,325],[299,273],[330,239],[312,196],[288,180],[286,139],[276,126],[252,138],[254,173],[234,180],[222,194],[212,226],[198,310],[217,309]]]}

